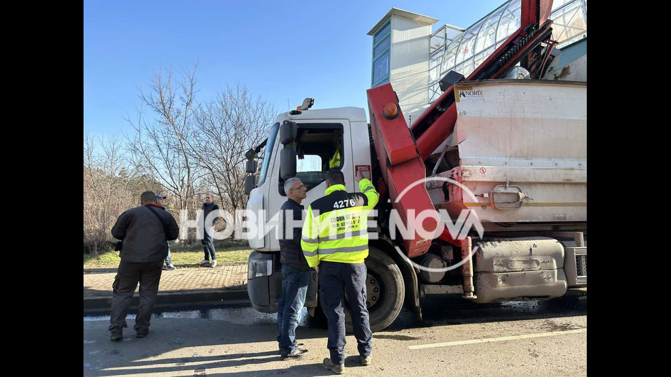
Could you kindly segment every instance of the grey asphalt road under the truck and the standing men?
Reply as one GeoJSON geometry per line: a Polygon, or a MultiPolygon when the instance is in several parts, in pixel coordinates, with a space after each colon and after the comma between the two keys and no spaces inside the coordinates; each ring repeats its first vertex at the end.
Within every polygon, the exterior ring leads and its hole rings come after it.
{"type": "MultiPolygon", "coordinates": [[[[301,321],[309,354],[283,361],[275,315],[249,303],[175,307],[155,313],[137,339],[128,320],[124,339],[110,341],[109,317],[84,317],[84,376],[328,376],[324,328],[301,321]]],[[[473,304],[461,298],[422,299],[424,320],[405,309],[373,335],[373,363],[358,364],[348,335],[350,376],[585,376],[586,291],[547,302],[473,304]],[[584,295],[584,296],[583,296],[584,295]]],[[[305,312],[305,311],[304,311],[305,312]]],[[[134,315],[131,316],[134,318],[134,315]]]]}

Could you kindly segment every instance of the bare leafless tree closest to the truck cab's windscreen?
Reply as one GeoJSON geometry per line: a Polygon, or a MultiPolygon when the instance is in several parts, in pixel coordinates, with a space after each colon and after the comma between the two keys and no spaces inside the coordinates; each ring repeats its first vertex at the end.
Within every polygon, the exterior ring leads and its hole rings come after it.
{"type": "Polygon", "coordinates": [[[207,172],[205,181],[215,188],[222,209],[233,213],[246,207],[244,153],[267,138],[275,114],[267,101],[253,98],[240,83],[199,107],[193,157],[207,172]]]}

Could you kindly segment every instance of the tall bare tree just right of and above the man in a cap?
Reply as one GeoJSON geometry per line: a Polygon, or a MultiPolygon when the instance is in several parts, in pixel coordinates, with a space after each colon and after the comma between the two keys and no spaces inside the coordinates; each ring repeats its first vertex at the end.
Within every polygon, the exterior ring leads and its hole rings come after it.
{"type": "Polygon", "coordinates": [[[194,137],[191,118],[197,109],[196,68],[197,64],[193,70],[184,71],[177,83],[170,68],[160,69],[151,80],[149,92],[140,89],[137,120],[126,118],[136,131],[128,140],[135,166],[172,194],[176,209],[188,209],[190,213],[196,208],[194,182],[199,179],[188,148],[194,137]],[[145,107],[154,118],[144,118],[145,107]]]}

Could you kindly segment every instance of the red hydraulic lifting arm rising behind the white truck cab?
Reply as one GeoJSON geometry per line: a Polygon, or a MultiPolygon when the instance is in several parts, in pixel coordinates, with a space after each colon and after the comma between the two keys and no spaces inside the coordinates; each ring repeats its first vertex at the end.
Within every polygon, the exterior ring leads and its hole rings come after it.
{"type": "MultiPolygon", "coordinates": [[[[547,18],[552,0],[521,1],[520,29],[501,44],[466,81],[501,77],[518,62],[525,64],[531,60],[533,55],[537,55],[534,49],[549,39],[552,21],[547,18]]],[[[549,49],[546,53],[549,53],[549,49]]],[[[424,182],[427,177],[424,161],[454,131],[457,120],[454,87],[448,88],[411,128],[407,127],[400,110],[398,116],[391,119],[383,114],[386,104],[398,105],[398,97],[391,84],[371,88],[366,91],[366,95],[375,153],[392,207],[396,209],[406,229],[423,226],[426,231],[435,233],[431,239],[441,236],[443,232],[438,229],[438,213],[435,212],[424,182]],[[405,194],[400,196],[404,190],[405,194]],[[431,213],[431,216],[416,218],[422,211],[431,213]]],[[[416,232],[410,239],[404,239],[407,256],[412,258],[427,252],[431,239],[416,232]]]]}

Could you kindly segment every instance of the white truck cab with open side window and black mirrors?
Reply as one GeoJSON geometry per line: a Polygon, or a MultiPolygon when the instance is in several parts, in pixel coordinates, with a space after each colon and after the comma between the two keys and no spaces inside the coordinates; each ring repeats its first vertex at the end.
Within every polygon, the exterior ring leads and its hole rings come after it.
{"type": "MultiPolygon", "coordinates": [[[[370,178],[370,139],[366,112],[360,107],[338,107],[333,109],[294,110],[279,114],[270,127],[265,146],[265,156],[255,187],[249,192],[247,203],[249,246],[255,251],[249,259],[248,290],[253,307],[259,311],[277,311],[281,273],[279,264],[279,239],[271,219],[286,202],[284,179],[281,174],[281,152],[292,148],[296,155],[295,177],[307,186],[307,198],[301,205],[306,209],[313,200],[324,196],[326,173],[333,166],[340,168],[348,191],[359,191],[355,184],[355,168],[363,170],[370,178]],[[282,144],[281,125],[295,124],[292,142],[282,144]],[[333,156],[338,153],[335,164],[333,156]],[[249,232],[250,222],[256,227],[249,232]],[[252,297],[253,296],[253,297],[252,297]]],[[[254,177],[249,176],[249,177],[254,177]]],[[[253,178],[252,178],[253,179],[253,178]]],[[[251,180],[251,179],[250,179],[251,180]]],[[[316,277],[314,277],[316,278],[316,277]]],[[[316,306],[316,285],[308,293],[306,307],[316,306]],[[314,295],[312,300],[310,296],[314,295]]]]}

